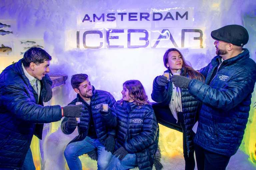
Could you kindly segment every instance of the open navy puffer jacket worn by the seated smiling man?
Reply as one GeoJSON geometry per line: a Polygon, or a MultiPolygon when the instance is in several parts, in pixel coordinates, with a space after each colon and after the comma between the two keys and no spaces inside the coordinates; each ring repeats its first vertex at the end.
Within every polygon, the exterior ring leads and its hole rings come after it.
{"type": "MultiPolygon", "coordinates": [[[[112,107],[116,100],[114,97],[107,91],[103,90],[95,90],[95,88],[92,86],[92,97],[91,97],[91,109],[92,109],[92,116],[93,116],[93,121],[95,125],[95,130],[97,133],[97,137],[101,144],[104,144],[105,139],[108,137],[108,135],[113,135],[115,136],[116,132],[115,130],[108,128],[103,124],[103,122],[100,119],[100,105],[105,103],[108,104],[109,107],[112,107]]],[[[69,105],[75,105],[76,102],[83,102],[84,104],[84,109],[85,111],[82,112],[81,117],[80,117],[80,123],[77,126],[78,129],[78,136],[76,136],[71,142],[76,142],[83,140],[88,133],[89,130],[89,124],[90,124],[90,112],[89,108],[85,104],[86,102],[77,94],[77,98],[74,99],[69,105]]],[[[71,134],[75,129],[68,128],[67,125],[68,117],[65,117],[62,122],[61,122],[61,130],[64,134],[71,134]]]]}

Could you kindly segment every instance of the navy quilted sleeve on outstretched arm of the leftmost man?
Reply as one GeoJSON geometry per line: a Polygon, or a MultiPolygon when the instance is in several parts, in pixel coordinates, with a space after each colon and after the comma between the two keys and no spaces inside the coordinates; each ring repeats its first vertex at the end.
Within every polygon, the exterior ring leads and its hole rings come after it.
{"type": "MultiPolygon", "coordinates": [[[[14,115],[22,121],[44,124],[61,120],[61,107],[41,106],[32,102],[32,96],[28,96],[28,88],[20,83],[4,82],[0,85],[0,97],[2,105],[6,107],[9,114],[14,115]]],[[[34,96],[33,96],[34,98],[34,96]]]]}

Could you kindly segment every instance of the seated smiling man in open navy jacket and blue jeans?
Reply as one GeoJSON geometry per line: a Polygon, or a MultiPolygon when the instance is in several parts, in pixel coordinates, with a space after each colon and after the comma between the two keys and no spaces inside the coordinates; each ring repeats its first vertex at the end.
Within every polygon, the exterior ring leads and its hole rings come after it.
{"type": "Polygon", "coordinates": [[[114,150],[116,131],[107,128],[101,121],[100,105],[108,104],[112,107],[116,100],[107,91],[95,90],[87,74],[73,75],[71,85],[77,97],[70,105],[82,102],[85,111],[81,114],[80,123],[76,118],[64,118],[61,122],[61,130],[64,134],[73,133],[76,127],[79,133],[69,142],[64,151],[68,167],[70,170],[82,170],[82,163],[78,156],[97,150],[98,170],[104,170],[114,150]]]}

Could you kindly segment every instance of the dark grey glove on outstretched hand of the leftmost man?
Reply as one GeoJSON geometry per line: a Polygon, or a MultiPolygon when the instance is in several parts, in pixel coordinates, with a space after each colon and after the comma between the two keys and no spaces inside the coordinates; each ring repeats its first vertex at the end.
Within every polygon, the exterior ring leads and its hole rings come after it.
{"type": "Polygon", "coordinates": [[[68,105],[63,107],[65,117],[80,118],[81,112],[84,111],[84,105],[68,105]]]}

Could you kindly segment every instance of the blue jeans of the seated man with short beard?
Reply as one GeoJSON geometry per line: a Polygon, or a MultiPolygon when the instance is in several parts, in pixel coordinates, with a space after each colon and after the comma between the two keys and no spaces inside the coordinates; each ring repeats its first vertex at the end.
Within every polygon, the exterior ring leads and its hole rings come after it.
{"type": "Polygon", "coordinates": [[[64,156],[70,170],[82,170],[82,163],[78,156],[88,153],[94,149],[98,150],[98,170],[104,170],[108,165],[112,153],[105,150],[99,139],[86,136],[85,139],[72,142],[67,145],[64,156]]]}

